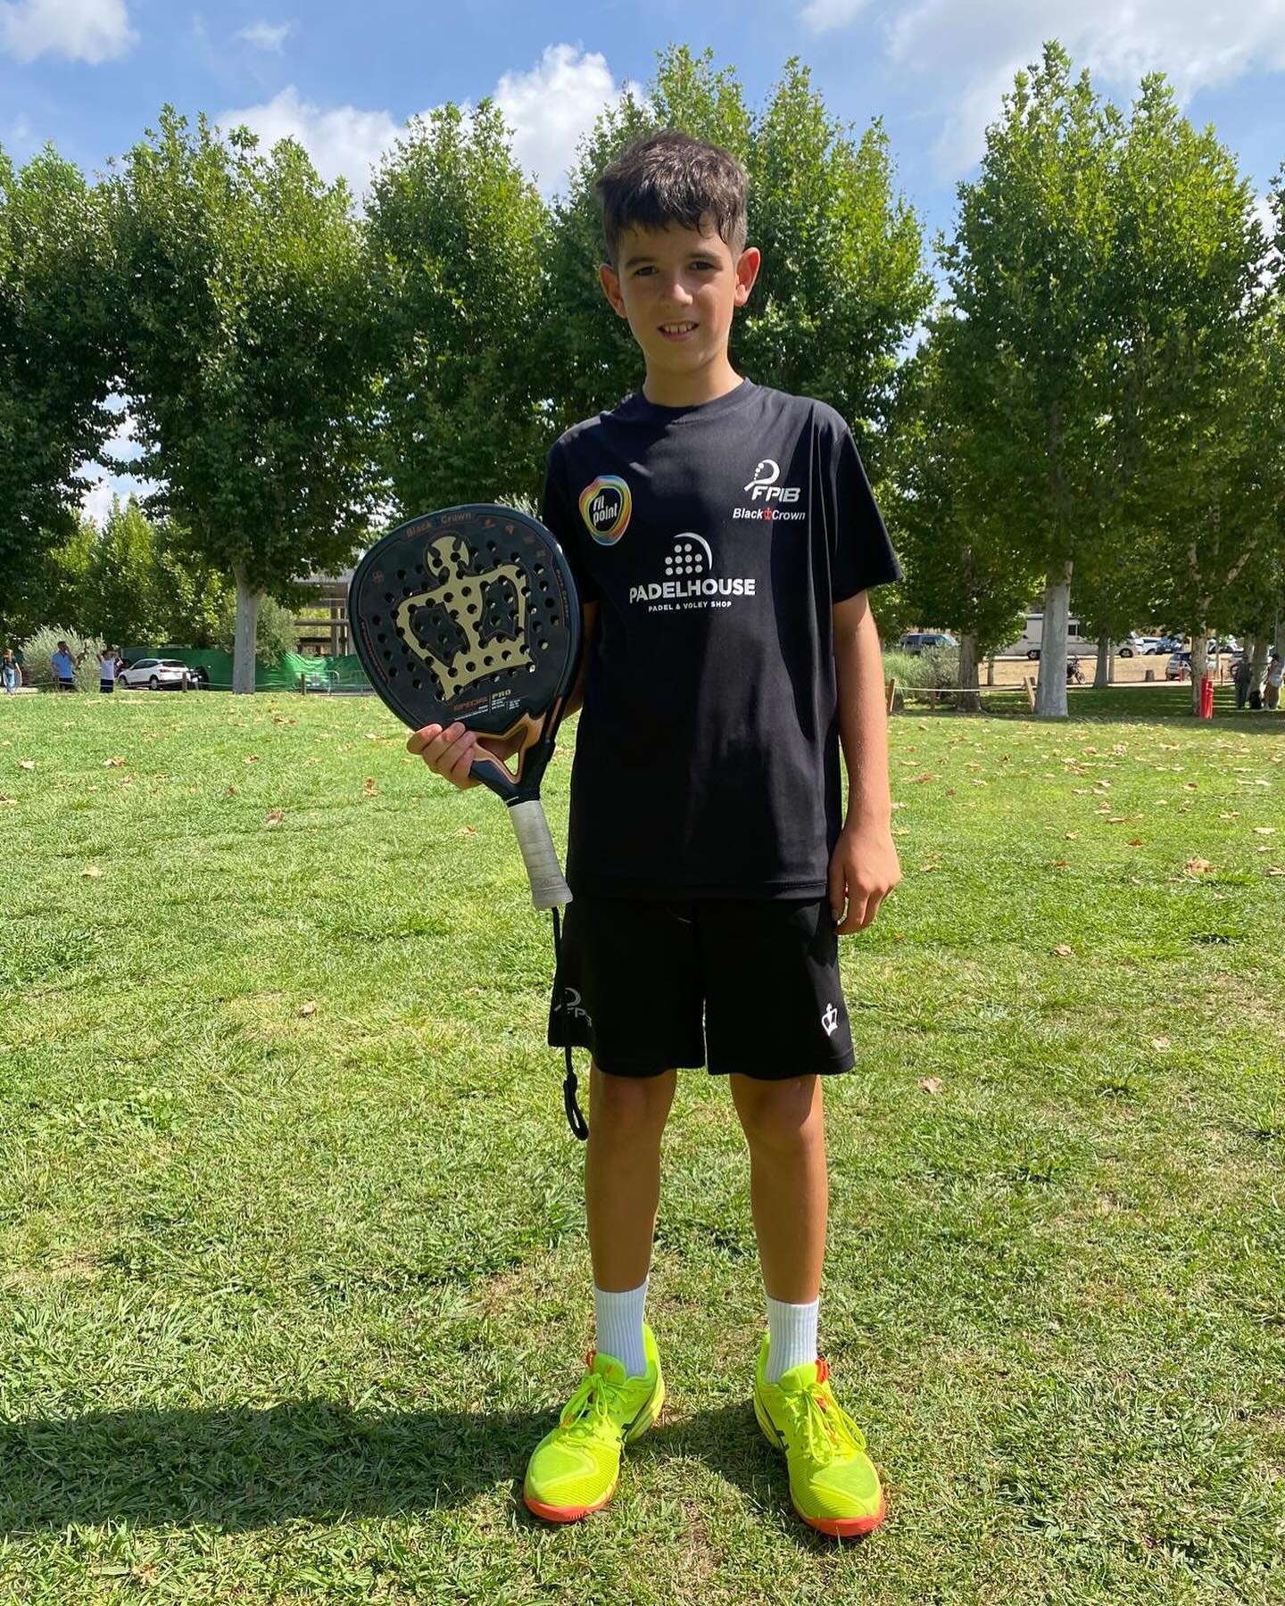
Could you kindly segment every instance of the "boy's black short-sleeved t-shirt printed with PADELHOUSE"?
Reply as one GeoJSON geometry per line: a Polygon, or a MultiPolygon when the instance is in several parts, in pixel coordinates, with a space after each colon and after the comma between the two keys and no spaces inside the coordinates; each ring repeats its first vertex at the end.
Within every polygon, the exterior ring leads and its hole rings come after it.
{"type": "Polygon", "coordinates": [[[819,898],[842,822],[830,609],[898,580],[848,426],[742,381],[569,429],[543,520],[598,602],[567,880],[819,898]]]}

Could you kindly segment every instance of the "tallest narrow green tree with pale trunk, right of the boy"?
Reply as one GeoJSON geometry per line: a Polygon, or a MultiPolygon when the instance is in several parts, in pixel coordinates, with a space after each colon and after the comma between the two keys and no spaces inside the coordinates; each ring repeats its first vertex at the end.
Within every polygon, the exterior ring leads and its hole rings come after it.
{"type": "Polygon", "coordinates": [[[1078,556],[1110,528],[1110,377],[1121,120],[1044,47],[959,186],[941,262],[961,320],[961,389],[988,506],[1044,575],[1036,711],[1067,715],[1067,623],[1078,556]]]}

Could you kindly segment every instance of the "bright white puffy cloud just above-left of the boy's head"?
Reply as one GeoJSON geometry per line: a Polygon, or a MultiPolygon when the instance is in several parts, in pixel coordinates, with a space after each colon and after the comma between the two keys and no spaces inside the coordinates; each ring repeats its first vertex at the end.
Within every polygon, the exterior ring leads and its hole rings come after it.
{"type": "Polygon", "coordinates": [[[575,45],[548,45],[528,72],[500,79],[495,103],[514,132],[514,157],[546,194],[562,183],[598,114],[626,88],[641,93],[636,85],[617,85],[606,56],[575,45]]]}

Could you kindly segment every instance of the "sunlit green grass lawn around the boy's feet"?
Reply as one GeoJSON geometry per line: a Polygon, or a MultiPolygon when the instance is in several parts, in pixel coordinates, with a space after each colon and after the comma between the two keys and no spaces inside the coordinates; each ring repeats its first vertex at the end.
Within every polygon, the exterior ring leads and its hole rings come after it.
{"type": "Polygon", "coordinates": [[[488,793],[373,699],[5,700],[0,1601],[1285,1601],[1285,715],[1189,695],[893,721],[906,880],[827,1089],[822,1346],[890,1502],[858,1545],[749,1407],[702,1073],[667,1416],[609,1511],[522,1506],[589,1274],[488,793]]]}

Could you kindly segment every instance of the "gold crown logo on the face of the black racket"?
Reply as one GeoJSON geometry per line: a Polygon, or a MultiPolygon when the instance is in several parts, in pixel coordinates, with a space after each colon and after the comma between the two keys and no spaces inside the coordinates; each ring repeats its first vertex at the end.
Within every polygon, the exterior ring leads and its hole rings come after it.
{"type": "Polygon", "coordinates": [[[464,687],[500,670],[530,670],[527,652],[527,580],[517,564],[496,564],[477,573],[472,554],[456,535],[439,535],[424,548],[434,585],[405,597],[395,613],[397,631],[432,670],[450,702],[464,687]],[[416,628],[422,609],[435,615],[430,628],[416,628]],[[427,639],[426,639],[427,638],[427,639]]]}

